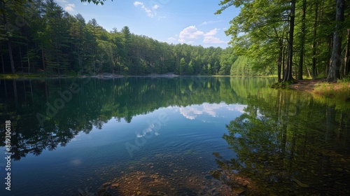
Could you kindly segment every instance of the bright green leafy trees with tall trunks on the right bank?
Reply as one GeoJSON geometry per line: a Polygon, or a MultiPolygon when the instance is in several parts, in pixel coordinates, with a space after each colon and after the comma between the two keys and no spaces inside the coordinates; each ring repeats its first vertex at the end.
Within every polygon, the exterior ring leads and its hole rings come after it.
{"type": "Polygon", "coordinates": [[[350,8],[344,0],[221,1],[241,12],[230,23],[237,55],[254,59],[251,69],[267,69],[279,80],[307,75],[334,81],[350,71],[350,8]]]}

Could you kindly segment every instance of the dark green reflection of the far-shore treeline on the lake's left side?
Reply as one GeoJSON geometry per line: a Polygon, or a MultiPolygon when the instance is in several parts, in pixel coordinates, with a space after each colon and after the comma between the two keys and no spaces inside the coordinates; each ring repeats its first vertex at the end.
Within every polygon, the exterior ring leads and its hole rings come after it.
{"type": "MultiPolygon", "coordinates": [[[[40,155],[46,149],[66,146],[79,132],[101,130],[112,118],[131,123],[134,116],[167,106],[221,103],[244,104],[248,93],[269,83],[267,78],[180,77],[180,78],[90,78],[0,80],[0,122],[11,119],[13,160],[28,153],[40,155]],[[45,118],[41,127],[37,113],[47,116],[48,106],[61,98],[58,91],[80,89],[57,114],[45,118]]],[[[5,141],[0,126],[0,140],[5,141]]],[[[4,146],[5,143],[0,143],[4,146]]]]}

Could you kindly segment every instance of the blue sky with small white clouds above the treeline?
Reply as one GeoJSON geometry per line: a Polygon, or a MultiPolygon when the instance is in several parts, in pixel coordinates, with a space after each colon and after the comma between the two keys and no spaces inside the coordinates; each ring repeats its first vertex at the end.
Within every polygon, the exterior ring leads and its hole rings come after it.
{"type": "Polygon", "coordinates": [[[106,0],[103,6],[80,0],[55,1],[71,15],[83,15],[86,22],[96,19],[107,31],[127,26],[134,34],[158,41],[204,47],[226,48],[230,37],[225,29],[239,13],[239,8],[231,7],[214,15],[221,8],[219,0],[106,0]]]}

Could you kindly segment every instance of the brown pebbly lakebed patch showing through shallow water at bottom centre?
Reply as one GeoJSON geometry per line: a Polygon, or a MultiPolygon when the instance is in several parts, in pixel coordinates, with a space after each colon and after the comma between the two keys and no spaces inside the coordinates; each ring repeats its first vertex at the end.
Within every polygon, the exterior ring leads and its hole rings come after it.
{"type": "Polygon", "coordinates": [[[100,190],[115,190],[120,195],[239,195],[244,190],[232,190],[216,179],[202,174],[177,172],[176,176],[159,173],[131,172],[120,179],[104,183],[100,190]]]}

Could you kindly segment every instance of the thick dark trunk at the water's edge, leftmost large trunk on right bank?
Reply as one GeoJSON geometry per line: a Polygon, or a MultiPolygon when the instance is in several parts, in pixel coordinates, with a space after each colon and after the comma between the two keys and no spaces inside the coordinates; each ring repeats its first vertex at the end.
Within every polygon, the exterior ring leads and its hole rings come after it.
{"type": "Polygon", "coordinates": [[[288,55],[286,71],[283,76],[283,81],[293,80],[292,64],[293,64],[293,38],[294,38],[294,20],[295,20],[295,0],[292,0],[290,5],[290,21],[289,21],[289,38],[288,38],[288,55]]]}

